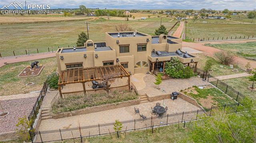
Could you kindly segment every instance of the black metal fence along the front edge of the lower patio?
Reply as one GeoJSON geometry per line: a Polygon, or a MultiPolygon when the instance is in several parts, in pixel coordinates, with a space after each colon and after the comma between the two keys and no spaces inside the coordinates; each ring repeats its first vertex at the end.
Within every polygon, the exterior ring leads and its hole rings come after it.
{"type": "MultiPolygon", "coordinates": [[[[122,130],[120,132],[138,130],[138,129],[148,129],[154,127],[160,127],[164,125],[170,125],[174,123],[184,123],[182,126],[185,127],[186,121],[195,121],[198,119],[202,119],[205,116],[212,116],[216,110],[225,110],[227,113],[241,112],[244,111],[245,108],[240,106],[239,103],[229,104],[223,106],[212,106],[212,108],[205,110],[194,110],[190,112],[180,112],[167,114],[159,117],[148,117],[146,119],[130,119],[126,121],[121,121],[122,130]]],[[[77,139],[80,138],[82,141],[82,137],[92,137],[97,135],[106,135],[110,133],[116,133],[114,130],[114,124],[112,123],[104,123],[104,124],[96,124],[96,125],[88,125],[82,127],[73,127],[69,129],[54,129],[47,131],[30,131],[30,137],[32,143],[44,143],[50,141],[63,141],[66,139],[77,139]]]]}

